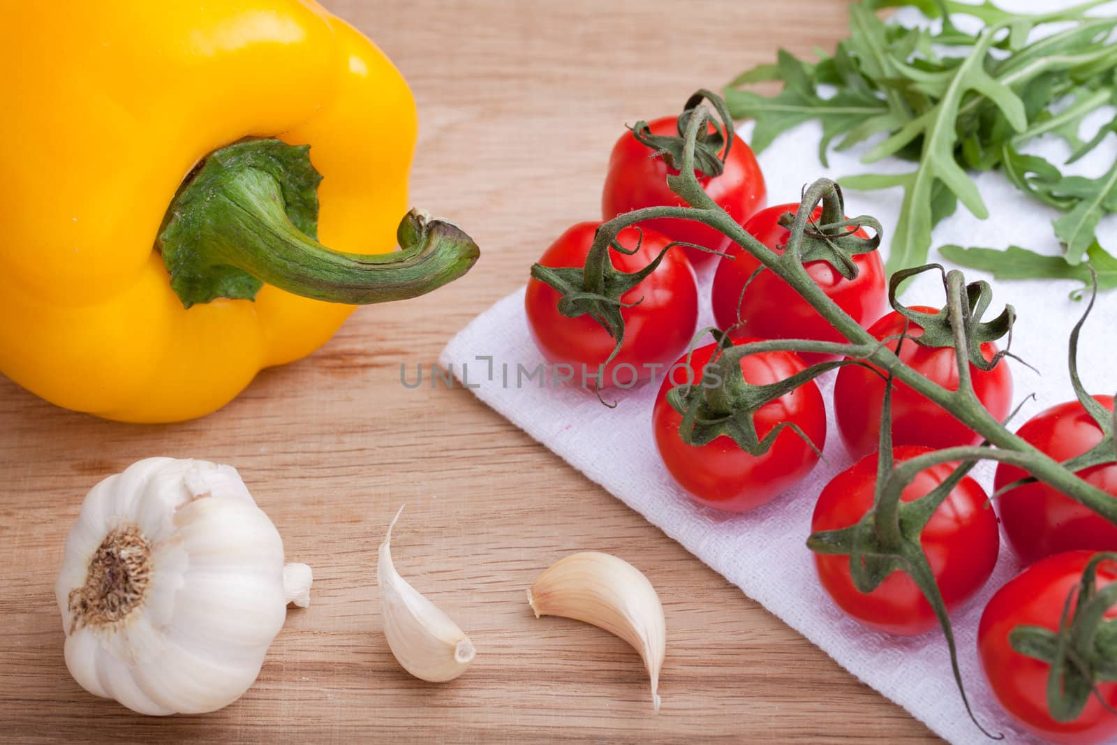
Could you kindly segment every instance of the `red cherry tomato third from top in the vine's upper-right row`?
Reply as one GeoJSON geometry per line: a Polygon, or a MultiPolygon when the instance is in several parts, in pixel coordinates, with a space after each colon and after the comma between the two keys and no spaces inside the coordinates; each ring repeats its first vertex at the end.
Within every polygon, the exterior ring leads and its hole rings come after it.
{"type": "MultiPolygon", "coordinates": [[[[914,311],[937,313],[935,308],[913,306],[914,311]]],[[[895,311],[869,327],[877,338],[904,332],[905,318],[895,311]]],[[[923,329],[911,324],[908,335],[918,336],[923,329]]],[[[892,344],[895,348],[895,344],[892,344]]],[[[992,360],[996,345],[986,342],[981,345],[982,355],[992,360]]],[[[954,361],[953,347],[920,346],[906,341],[900,348],[900,360],[909,367],[943,388],[954,391],[958,388],[958,369],[954,361]]],[[[1004,420],[1012,404],[1012,373],[1005,360],[1001,360],[991,371],[985,372],[970,365],[974,392],[982,405],[994,418],[1004,420]]],[[[885,398],[885,381],[871,370],[858,365],[847,365],[838,372],[834,384],[834,412],[838,431],[850,455],[860,458],[877,449],[880,436],[880,405],[885,398]]],[[[892,390],[892,443],[925,445],[941,449],[961,445],[975,445],[981,437],[960,422],[952,414],[932,403],[904,383],[897,382],[892,390]]]]}

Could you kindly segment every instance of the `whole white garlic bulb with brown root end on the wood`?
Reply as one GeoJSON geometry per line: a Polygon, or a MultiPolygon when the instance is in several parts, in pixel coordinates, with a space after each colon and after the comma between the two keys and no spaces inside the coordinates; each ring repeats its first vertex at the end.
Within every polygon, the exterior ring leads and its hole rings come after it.
{"type": "Polygon", "coordinates": [[[237,469],[135,462],[86,495],[66,538],[66,667],[141,714],[228,706],[256,680],[288,599],[309,600],[309,567],[292,567],[237,469]]]}

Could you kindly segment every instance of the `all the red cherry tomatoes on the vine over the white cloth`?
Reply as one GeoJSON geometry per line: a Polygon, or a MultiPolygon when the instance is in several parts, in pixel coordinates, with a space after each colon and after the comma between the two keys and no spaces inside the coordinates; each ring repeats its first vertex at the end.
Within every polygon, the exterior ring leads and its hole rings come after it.
{"type": "MultiPolygon", "coordinates": [[[[663,117],[649,126],[653,134],[669,135],[677,120],[663,117]]],[[[764,179],[748,145],[733,135],[732,146],[722,154],[722,174],[698,174],[699,183],[748,233],[774,251],[782,251],[789,230],[781,225],[781,217],[795,212],[799,204],[762,209],[766,195],[764,179]]],[[[603,218],[608,220],[646,207],[681,204],[667,185],[667,176],[675,172],[669,159],[652,153],[626,134],[617,142],[609,162],[603,218]]],[[[819,217],[818,211],[814,217],[819,217]]],[[[540,264],[582,267],[600,225],[584,222],[570,228],[544,251],[540,264]]],[[[755,413],[761,439],[781,423],[793,423],[799,430],[796,433],[785,428],[762,455],[744,451],[725,436],[700,446],[681,439],[681,414],[667,401],[667,393],[679,383],[700,380],[705,365],[718,351],[717,344],[688,350],[698,323],[700,286],[695,269],[708,270],[714,268],[712,262],[717,262],[710,300],[718,326],[728,329],[735,342],[754,338],[841,342],[844,341],[841,334],[775,274],[757,273],[760,264],[751,254],[708,226],[677,219],[649,220],[639,229],[626,228],[618,240],[630,248],[639,246],[632,254],[610,251],[613,267],[620,271],[647,266],[672,241],[709,250],[689,247],[669,250],[653,273],[620,297],[626,304],[621,311],[623,343],[601,370],[600,379],[593,380],[603,386],[618,388],[630,388],[648,379],[662,381],[652,412],[655,440],[668,471],[703,505],[746,512],[771,502],[805,478],[818,462],[827,436],[823,399],[813,382],[787,392],[755,413]]],[[[805,269],[839,307],[875,337],[895,337],[905,327],[908,335],[918,336],[922,329],[917,325],[889,311],[885,270],[877,252],[858,254],[853,261],[858,268],[853,278],[843,277],[822,260],[808,262],[805,269]]],[[[529,283],[526,312],[540,350],[553,363],[599,371],[613,353],[615,338],[590,315],[563,315],[558,300],[560,294],[547,284],[535,279],[529,283]]],[[[935,313],[932,308],[914,309],[935,313]]],[[[996,346],[983,344],[982,353],[992,360],[996,346]]],[[[900,357],[939,385],[957,388],[952,347],[907,343],[900,346],[900,357]]],[[[804,354],[801,359],[791,352],[766,352],[743,357],[741,367],[745,381],[764,385],[789,378],[806,363],[820,361],[819,355],[804,354]]],[[[989,371],[971,365],[971,378],[982,404],[1003,420],[1012,401],[1008,365],[1002,361],[989,371]]],[[[859,460],[823,488],[812,518],[814,532],[853,525],[872,507],[884,393],[885,382],[873,371],[859,365],[840,369],[834,385],[837,426],[848,451],[859,460]]],[[[1113,409],[1113,399],[1097,400],[1113,409]]],[[[896,460],[980,441],[962,422],[903,383],[892,392],[891,421],[896,460]]],[[[1019,434],[1060,461],[1086,452],[1102,437],[1077,401],[1040,413],[1019,434]]],[[[948,465],[922,471],[901,498],[909,502],[926,495],[952,471],[948,465]]],[[[1079,475],[1117,496],[1117,465],[1094,467],[1079,475]]],[[[1000,489],[1025,476],[1002,465],[995,484],[1000,489]]],[[[1117,550],[1117,527],[1041,483],[1016,486],[1002,495],[999,504],[1010,544],[1025,564],[1038,563],[1002,588],[982,618],[978,648],[992,688],[1010,714],[1038,734],[1068,743],[1110,737],[1117,734],[1117,716],[1096,699],[1073,722],[1051,718],[1046,703],[1049,668],[1013,651],[1008,631],[1019,624],[1058,629],[1067,595],[1076,586],[1090,552],[1117,550]]],[[[930,518],[920,541],[947,610],[956,609],[985,584],[997,558],[997,518],[985,490],[972,478],[963,478],[930,518]]],[[[848,556],[817,555],[815,562],[827,592],[861,623],[903,636],[924,633],[937,625],[930,605],[906,574],[896,572],[866,594],[853,585],[848,556]]],[[[1113,567],[1098,572],[1099,586],[1115,580],[1117,570],[1113,567]]],[[[1117,610],[1114,615],[1117,617],[1117,610]]],[[[1099,691],[1108,705],[1117,707],[1117,684],[1102,684],[1099,691]]]]}

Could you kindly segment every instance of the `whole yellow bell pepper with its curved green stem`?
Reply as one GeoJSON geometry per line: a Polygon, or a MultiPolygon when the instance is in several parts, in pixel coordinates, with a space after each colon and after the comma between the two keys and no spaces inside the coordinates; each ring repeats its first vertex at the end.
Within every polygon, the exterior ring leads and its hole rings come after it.
{"type": "Polygon", "coordinates": [[[411,93],[314,2],[73,0],[8,16],[0,372],[48,401],[199,417],[324,344],[350,304],[422,294],[476,260],[452,225],[400,222],[411,93]],[[314,168],[289,145],[309,145],[314,168]],[[315,217],[337,250],[314,240],[315,217]]]}

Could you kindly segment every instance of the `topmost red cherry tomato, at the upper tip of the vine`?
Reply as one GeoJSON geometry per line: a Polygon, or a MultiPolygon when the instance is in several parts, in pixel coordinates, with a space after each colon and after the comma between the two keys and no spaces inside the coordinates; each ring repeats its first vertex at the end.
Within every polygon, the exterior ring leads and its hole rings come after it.
{"type": "MultiPolygon", "coordinates": [[[[652,134],[677,135],[678,120],[665,116],[648,123],[652,134]]],[[[712,124],[709,131],[714,131],[712,124]]],[[[723,151],[724,152],[724,151],[723,151]]],[[[662,155],[641,144],[631,133],[626,133],[613,145],[605,175],[605,189],[601,197],[601,212],[605,220],[645,207],[669,207],[685,204],[667,187],[667,176],[678,173],[668,168],[662,155]]],[[[744,222],[753,212],[764,207],[764,175],[756,156],[745,141],[733,135],[733,146],[725,161],[725,170],[718,176],[698,174],[698,182],[710,199],[717,202],[737,222],[744,222]]],[[[715,251],[725,251],[729,239],[709,226],[690,220],[663,218],[649,220],[649,228],[658,230],[671,240],[704,246],[715,251]]],[[[687,248],[687,256],[695,266],[714,258],[713,254],[687,248]]]]}

